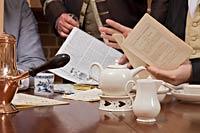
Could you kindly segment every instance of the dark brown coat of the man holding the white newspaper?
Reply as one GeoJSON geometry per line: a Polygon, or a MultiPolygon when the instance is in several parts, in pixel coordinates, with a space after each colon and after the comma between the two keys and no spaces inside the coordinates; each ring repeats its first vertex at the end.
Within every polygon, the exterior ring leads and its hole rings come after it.
{"type": "MultiPolygon", "coordinates": [[[[41,0],[42,5],[45,0],[41,0]]],[[[83,0],[53,1],[46,7],[46,17],[54,28],[56,19],[61,13],[73,13],[80,16],[83,0]]],[[[133,28],[147,10],[147,0],[105,0],[97,2],[99,12],[109,11],[109,14],[100,15],[103,25],[105,19],[113,19],[125,26],[133,28]]]]}

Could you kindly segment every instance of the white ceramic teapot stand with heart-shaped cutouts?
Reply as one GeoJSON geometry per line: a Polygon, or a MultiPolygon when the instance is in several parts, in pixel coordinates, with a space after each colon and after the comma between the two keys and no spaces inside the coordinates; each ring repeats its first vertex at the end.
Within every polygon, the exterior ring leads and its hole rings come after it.
{"type": "Polygon", "coordinates": [[[132,111],[132,101],[129,96],[100,95],[99,109],[104,111],[132,111]]]}

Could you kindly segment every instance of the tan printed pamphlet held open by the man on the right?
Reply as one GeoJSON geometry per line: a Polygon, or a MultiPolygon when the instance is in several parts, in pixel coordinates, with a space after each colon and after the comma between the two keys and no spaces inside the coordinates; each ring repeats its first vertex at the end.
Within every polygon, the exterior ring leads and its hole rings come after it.
{"type": "Polygon", "coordinates": [[[120,47],[133,67],[148,64],[175,69],[192,53],[189,45],[148,14],[142,17],[120,47]]]}

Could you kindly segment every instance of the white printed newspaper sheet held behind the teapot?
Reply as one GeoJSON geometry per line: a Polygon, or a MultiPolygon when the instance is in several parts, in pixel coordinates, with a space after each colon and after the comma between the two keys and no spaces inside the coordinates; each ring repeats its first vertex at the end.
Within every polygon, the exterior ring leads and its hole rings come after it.
{"type": "Polygon", "coordinates": [[[93,62],[100,63],[104,68],[119,60],[122,53],[107,46],[86,32],[73,28],[57,54],[70,55],[67,65],[49,71],[78,84],[97,84],[89,78],[89,66],[93,62]]]}

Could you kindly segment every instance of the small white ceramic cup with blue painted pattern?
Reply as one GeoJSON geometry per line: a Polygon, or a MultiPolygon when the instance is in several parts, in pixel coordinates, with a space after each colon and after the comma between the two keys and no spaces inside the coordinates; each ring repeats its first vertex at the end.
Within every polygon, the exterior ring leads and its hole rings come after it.
{"type": "Polygon", "coordinates": [[[53,95],[53,73],[38,73],[34,77],[34,94],[42,96],[53,95]]]}

